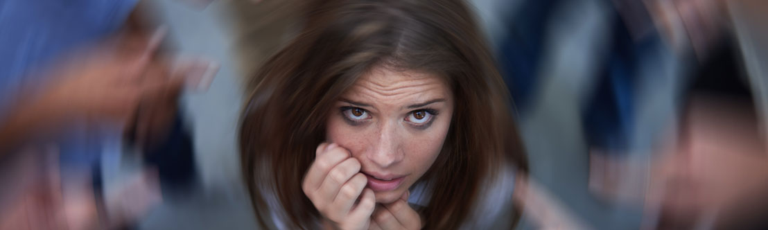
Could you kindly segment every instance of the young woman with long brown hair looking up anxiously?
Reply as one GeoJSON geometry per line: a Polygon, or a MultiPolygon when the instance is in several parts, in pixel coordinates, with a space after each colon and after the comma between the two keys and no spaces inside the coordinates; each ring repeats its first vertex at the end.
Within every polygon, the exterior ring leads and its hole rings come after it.
{"type": "MultiPolygon", "coordinates": [[[[491,228],[528,166],[461,1],[321,1],[250,82],[243,177],[264,228],[491,228]]],[[[519,212],[515,212],[519,214],[519,212]]],[[[498,226],[497,226],[498,227],[498,226]]]]}

